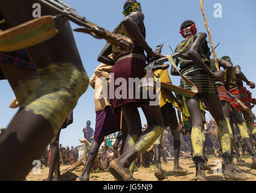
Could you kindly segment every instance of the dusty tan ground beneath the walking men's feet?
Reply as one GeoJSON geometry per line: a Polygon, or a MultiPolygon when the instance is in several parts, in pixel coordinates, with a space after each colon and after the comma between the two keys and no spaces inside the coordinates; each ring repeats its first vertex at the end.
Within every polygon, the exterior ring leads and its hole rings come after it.
{"type": "MultiPolygon", "coordinates": [[[[245,163],[237,163],[238,168],[247,176],[249,177],[248,181],[256,181],[256,169],[250,169],[251,165],[251,158],[245,158],[245,163]]],[[[214,168],[216,168],[216,160],[220,160],[218,157],[210,157],[208,166],[211,167],[210,171],[206,171],[206,176],[208,177],[208,180],[210,181],[222,181],[223,175],[222,174],[214,174],[214,168]]],[[[235,160],[236,161],[236,160],[235,160]]],[[[194,164],[191,159],[180,159],[180,165],[188,169],[187,175],[179,175],[174,172],[172,172],[173,169],[173,161],[170,161],[168,163],[162,163],[162,168],[165,171],[165,175],[168,176],[168,179],[166,181],[191,181],[194,180],[194,164]]],[[[60,170],[65,169],[67,166],[61,166],[60,170]]],[[[138,171],[134,172],[133,177],[135,180],[138,181],[156,181],[156,177],[154,176],[154,166],[150,166],[149,168],[139,167],[138,171]]],[[[81,170],[82,168],[80,168],[81,170]]],[[[82,171],[73,171],[71,173],[65,174],[63,176],[64,180],[72,181],[75,180],[77,176],[81,174],[82,171]]],[[[31,171],[30,174],[27,176],[27,180],[33,180],[33,181],[42,181],[46,179],[48,176],[49,168],[42,168],[41,174],[33,174],[31,171]]],[[[110,172],[104,171],[104,172],[97,172],[97,173],[91,173],[91,181],[114,181],[114,177],[110,174],[110,172]]]]}

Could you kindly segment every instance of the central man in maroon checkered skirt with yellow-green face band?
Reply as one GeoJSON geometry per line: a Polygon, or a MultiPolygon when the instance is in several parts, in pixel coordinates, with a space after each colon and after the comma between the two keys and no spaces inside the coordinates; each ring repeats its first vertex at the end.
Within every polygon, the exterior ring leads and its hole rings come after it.
{"type": "MultiPolygon", "coordinates": [[[[121,34],[129,37],[135,47],[132,52],[124,52],[110,43],[101,51],[98,60],[108,65],[114,65],[112,73],[115,77],[112,81],[118,78],[124,78],[127,85],[129,85],[129,78],[143,78],[146,73],[146,56],[144,51],[147,52],[147,59],[152,57],[160,58],[161,55],[153,52],[152,48],[147,44],[146,28],[144,26],[144,14],[141,12],[141,5],[135,0],[129,0],[124,3],[124,19],[114,33],[121,34]],[[107,57],[113,52],[113,59],[107,57]]],[[[114,87],[117,90],[118,86],[114,87]]],[[[117,180],[133,180],[132,172],[130,171],[131,164],[135,161],[136,157],[146,151],[153,142],[164,131],[164,122],[162,120],[161,111],[159,106],[150,106],[149,99],[135,98],[135,89],[126,90],[126,98],[115,98],[110,101],[112,109],[121,109],[124,119],[127,124],[128,138],[127,143],[130,150],[124,152],[118,159],[112,160],[109,165],[111,174],[117,180]],[[132,97],[130,97],[132,96],[132,97]],[[141,107],[147,119],[149,128],[141,135],[141,119],[138,112],[138,107],[141,107]]]]}

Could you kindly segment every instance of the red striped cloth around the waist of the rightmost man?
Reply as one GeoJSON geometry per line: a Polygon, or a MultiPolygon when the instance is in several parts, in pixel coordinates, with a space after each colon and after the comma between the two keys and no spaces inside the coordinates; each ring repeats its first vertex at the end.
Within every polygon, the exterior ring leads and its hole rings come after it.
{"type": "MultiPolygon", "coordinates": [[[[234,87],[229,90],[235,97],[237,97],[240,101],[242,101],[247,107],[251,107],[252,101],[252,93],[246,89],[246,87],[234,87]]],[[[243,111],[243,107],[240,106],[237,102],[232,100],[230,96],[228,96],[229,103],[234,107],[236,111],[243,111]]]]}

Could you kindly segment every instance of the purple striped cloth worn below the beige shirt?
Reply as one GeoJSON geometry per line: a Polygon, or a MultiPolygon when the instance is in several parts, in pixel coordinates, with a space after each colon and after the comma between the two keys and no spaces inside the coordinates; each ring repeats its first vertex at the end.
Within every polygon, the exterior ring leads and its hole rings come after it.
{"type": "MultiPolygon", "coordinates": [[[[104,131],[104,136],[115,133],[120,130],[121,111],[117,110],[115,115],[110,110],[109,106],[106,106],[104,110],[96,112],[96,125],[94,131],[94,141],[98,141],[101,131],[104,131]]],[[[123,119],[123,124],[125,124],[123,119]]]]}

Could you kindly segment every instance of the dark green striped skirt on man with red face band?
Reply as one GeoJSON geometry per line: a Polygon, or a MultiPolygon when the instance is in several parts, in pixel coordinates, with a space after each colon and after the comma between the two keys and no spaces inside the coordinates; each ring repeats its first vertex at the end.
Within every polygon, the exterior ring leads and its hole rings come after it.
{"type": "MultiPolygon", "coordinates": [[[[181,71],[181,74],[196,85],[199,95],[213,95],[218,93],[213,78],[210,78],[209,75],[206,74],[206,72],[204,72],[196,65],[183,69],[181,71]]],[[[183,78],[181,78],[181,87],[190,90],[190,85],[188,85],[188,83],[185,80],[183,80],[183,78]]]]}

